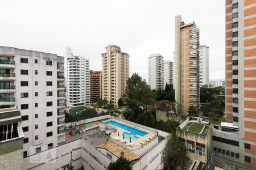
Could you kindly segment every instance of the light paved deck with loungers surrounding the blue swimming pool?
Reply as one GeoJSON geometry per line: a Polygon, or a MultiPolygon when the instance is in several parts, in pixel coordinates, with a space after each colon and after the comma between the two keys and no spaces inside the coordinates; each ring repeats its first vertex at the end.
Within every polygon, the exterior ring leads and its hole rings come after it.
{"type": "Polygon", "coordinates": [[[153,133],[152,131],[148,131],[146,129],[138,128],[137,126],[126,124],[125,122],[121,122],[121,121],[117,121],[117,120],[112,120],[112,121],[119,122],[120,124],[127,125],[127,126],[130,126],[130,127],[134,128],[134,129],[145,131],[147,133],[143,137],[140,136],[140,135],[135,134],[135,136],[138,137],[138,139],[131,139],[131,143],[130,143],[130,139],[125,138],[123,140],[123,135],[122,135],[125,132],[130,134],[131,133],[130,131],[127,131],[127,130],[122,129],[122,128],[118,128],[117,126],[114,126],[114,125],[111,125],[111,124],[106,124],[110,128],[117,129],[116,133],[110,135],[110,139],[113,142],[118,143],[118,145],[124,146],[129,150],[141,149],[144,146],[146,146],[148,143],[150,143],[152,140],[157,138],[157,135],[155,133],[153,133]],[[118,132],[119,132],[119,137],[118,137],[118,132]]]}

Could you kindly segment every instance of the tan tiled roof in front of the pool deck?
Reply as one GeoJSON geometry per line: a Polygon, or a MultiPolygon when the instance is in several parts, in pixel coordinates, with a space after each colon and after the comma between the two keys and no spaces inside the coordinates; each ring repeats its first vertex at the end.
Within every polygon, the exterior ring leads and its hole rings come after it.
{"type": "Polygon", "coordinates": [[[131,153],[130,151],[126,150],[125,148],[123,148],[111,141],[107,142],[107,143],[102,143],[101,145],[98,145],[97,147],[105,148],[106,150],[112,152],[112,154],[117,156],[117,158],[119,158],[121,156],[121,152],[124,152],[125,158],[129,161],[133,161],[133,160],[140,158],[138,155],[131,153]]]}

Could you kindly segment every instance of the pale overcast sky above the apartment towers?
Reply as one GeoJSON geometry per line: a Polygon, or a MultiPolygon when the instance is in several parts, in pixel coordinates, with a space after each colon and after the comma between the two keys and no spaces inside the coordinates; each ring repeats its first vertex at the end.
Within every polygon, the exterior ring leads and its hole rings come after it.
{"type": "Polygon", "coordinates": [[[147,57],[172,60],[174,18],[194,21],[200,44],[210,47],[210,79],[225,78],[225,2],[223,0],[1,1],[0,46],[90,59],[101,70],[101,53],[114,44],[130,54],[130,75],[147,80],[147,57]]]}

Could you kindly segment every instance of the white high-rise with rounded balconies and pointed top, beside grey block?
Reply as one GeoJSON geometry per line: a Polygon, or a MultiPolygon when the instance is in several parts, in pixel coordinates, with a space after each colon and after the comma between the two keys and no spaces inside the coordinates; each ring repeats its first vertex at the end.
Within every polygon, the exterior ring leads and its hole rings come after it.
{"type": "Polygon", "coordinates": [[[83,107],[89,104],[89,59],[74,56],[71,48],[67,48],[66,69],[67,108],[83,107]]]}

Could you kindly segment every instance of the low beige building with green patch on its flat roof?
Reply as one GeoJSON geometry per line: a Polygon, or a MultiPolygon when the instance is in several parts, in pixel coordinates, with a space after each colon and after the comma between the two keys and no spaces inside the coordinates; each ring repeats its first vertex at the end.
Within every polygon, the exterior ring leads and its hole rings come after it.
{"type": "Polygon", "coordinates": [[[207,164],[210,160],[210,120],[189,117],[176,129],[176,134],[187,147],[188,157],[207,164]]]}

